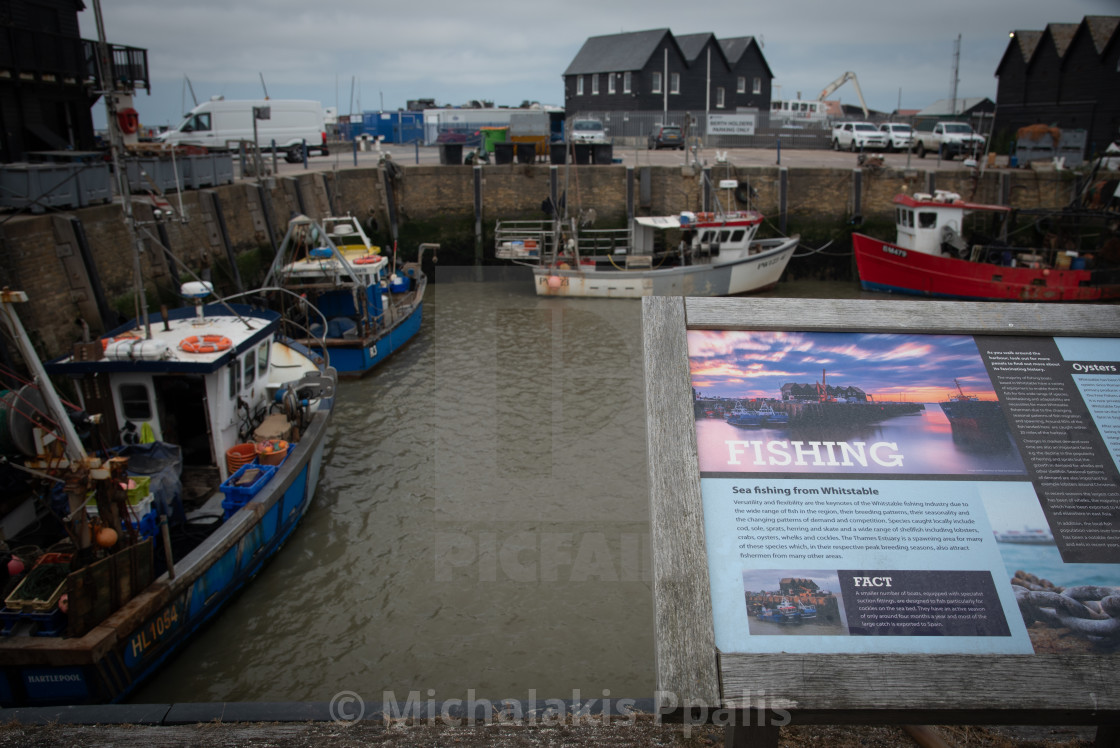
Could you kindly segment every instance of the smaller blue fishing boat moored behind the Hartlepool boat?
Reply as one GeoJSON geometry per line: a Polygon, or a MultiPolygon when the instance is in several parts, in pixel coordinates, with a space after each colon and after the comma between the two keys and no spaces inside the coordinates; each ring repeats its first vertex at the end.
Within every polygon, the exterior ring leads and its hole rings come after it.
{"type": "Polygon", "coordinates": [[[352,216],[321,223],[300,215],[288,224],[264,280],[292,339],[323,354],[340,376],[358,377],[392,356],[420,329],[428,279],[427,250],[398,265],[352,216]]]}

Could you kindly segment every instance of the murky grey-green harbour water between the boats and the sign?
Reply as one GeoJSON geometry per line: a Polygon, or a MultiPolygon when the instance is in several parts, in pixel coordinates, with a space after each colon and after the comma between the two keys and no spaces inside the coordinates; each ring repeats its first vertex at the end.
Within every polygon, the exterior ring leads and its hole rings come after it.
{"type": "Polygon", "coordinates": [[[438,273],[288,545],[133,702],[652,695],[641,303],[438,273]]]}

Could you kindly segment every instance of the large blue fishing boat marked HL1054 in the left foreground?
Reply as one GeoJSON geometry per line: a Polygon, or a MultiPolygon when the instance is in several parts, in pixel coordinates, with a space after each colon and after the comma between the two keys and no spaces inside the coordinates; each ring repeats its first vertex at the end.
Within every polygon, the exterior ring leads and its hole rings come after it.
{"type": "Polygon", "coordinates": [[[31,509],[3,517],[3,707],[124,699],[310,505],[336,373],[281,334],[276,311],[205,305],[211,291],[186,283],[193,306],[46,364],[13,310],[27,297],[3,294],[32,372],[3,400],[31,509]],[[49,375],[76,383],[77,403],[65,406],[49,375]]]}

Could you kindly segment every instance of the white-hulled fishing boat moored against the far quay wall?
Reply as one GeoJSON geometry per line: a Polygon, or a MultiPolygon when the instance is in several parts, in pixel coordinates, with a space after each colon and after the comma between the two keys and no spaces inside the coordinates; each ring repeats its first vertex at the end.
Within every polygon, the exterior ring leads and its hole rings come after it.
{"type": "MultiPolygon", "coordinates": [[[[729,193],[738,188],[725,181],[729,193]]],[[[776,284],[800,241],[756,239],[760,213],[718,205],[715,212],[637,216],[626,228],[579,223],[500,221],[495,256],[532,268],[538,296],[731,296],[776,284]]]]}

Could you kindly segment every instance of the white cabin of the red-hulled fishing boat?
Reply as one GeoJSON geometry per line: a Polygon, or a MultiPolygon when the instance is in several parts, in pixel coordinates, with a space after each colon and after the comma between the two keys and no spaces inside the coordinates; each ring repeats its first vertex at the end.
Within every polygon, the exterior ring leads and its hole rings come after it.
{"type": "Polygon", "coordinates": [[[942,254],[945,244],[963,250],[964,216],[974,211],[1010,213],[1002,205],[965,203],[956,193],[937,190],[895,196],[896,244],[924,254],[942,254]]]}

